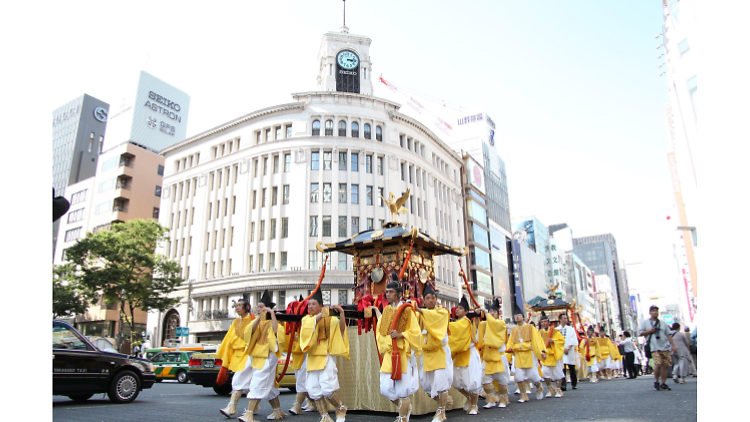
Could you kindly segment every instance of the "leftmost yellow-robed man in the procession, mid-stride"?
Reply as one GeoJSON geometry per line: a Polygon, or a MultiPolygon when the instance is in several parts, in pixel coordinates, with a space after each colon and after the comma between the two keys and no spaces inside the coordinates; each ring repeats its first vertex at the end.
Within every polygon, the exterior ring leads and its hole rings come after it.
{"type": "MultiPolygon", "coordinates": [[[[235,311],[239,318],[232,321],[229,331],[221,341],[219,349],[216,351],[216,358],[221,359],[221,370],[216,379],[218,385],[224,385],[227,381],[227,371],[234,372],[235,376],[245,369],[247,355],[245,354],[245,333],[250,333],[250,324],[253,322],[255,315],[250,313],[250,304],[245,298],[240,298],[235,305],[235,311]]],[[[250,336],[247,336],[250,339],[250,336]]],[[[231,418],[237,414],[237,402],[242,397],[242,390],[234,388],[234,379],[232,379],[232,396],[229,399],[227,407],[220,409],[219,412],[231,418]]]]}

